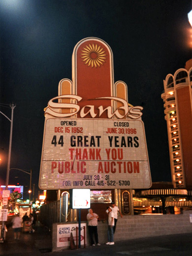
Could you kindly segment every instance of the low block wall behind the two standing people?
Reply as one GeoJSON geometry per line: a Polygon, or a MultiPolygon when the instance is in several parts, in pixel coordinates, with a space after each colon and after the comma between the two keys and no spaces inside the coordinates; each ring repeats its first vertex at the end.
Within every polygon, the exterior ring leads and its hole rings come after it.
{"type": "MultiPolygon", "coordinates": [[[[191,233],[190,223],[192,211],[184,211],[183,214],[165,215],[128,215],[119,217],[115,231],[114,241],[124,241],[140,237],[161,236],[169,234],[191,233]]],[[[61,224],[61,223],[58,223],[61,224]]],[[[78,225],[78,224],[77,224],[78,225]]],[[[107,242],[107,221],[98,222],[99,243],[107,242]]],[[[57,224],[53,224],[53,251],[62,250],[57,248],[57,224]]],[[[89,246],[87,232],[87,246],[89,246]]]]}

